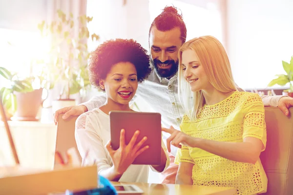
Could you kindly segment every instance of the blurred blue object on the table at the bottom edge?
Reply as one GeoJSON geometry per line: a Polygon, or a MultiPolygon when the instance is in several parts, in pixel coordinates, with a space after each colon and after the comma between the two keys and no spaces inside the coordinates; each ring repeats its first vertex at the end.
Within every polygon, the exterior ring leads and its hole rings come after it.
{"type": "Polygon", "coordinates": [[[99,188],[80,192],[71,192],[67,190],[65,195],[117,195],[117,192],[108,179],[99,176],[99,188]]]}

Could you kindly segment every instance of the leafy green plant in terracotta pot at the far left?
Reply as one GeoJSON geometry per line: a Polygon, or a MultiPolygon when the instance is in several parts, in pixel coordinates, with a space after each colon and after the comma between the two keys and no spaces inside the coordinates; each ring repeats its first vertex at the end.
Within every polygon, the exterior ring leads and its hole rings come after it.
{"type": "MultiPolygon", "coordinates": [[[[9,117],[16,120],[38,120],[37,113],[42,105],[42,87],[33,88],[33,82],[44,83],[41,77],[19,78],[6,68],[0,67],[0,76],[6,85],[0,89],[2,103],[9,117]]],[[[11,119],[13,119],[11,118],[11,119]]]]}

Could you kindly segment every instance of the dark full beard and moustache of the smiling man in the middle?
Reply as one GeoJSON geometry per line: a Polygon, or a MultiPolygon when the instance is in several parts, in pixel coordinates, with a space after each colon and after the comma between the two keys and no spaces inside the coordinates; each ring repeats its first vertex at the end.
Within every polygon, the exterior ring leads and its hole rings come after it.
{"type": "Polygon", "coordinates": [[[174,75],[176,75],[176,73],[178,71],[178,64],[179,64],[178,60],[177,61],[167,60],[167,61],[161,62],[158,59],[152,59],[150,57],[150,63],[153,65],[153,67],[155,68],[155,71],[157,72],[157,74],[159,75],[160,78],[170,79],[174,75]],[[171,64],[171,68],[170,69],[161,69],[161,68],[159,68],[158,64],[171,64]]]}

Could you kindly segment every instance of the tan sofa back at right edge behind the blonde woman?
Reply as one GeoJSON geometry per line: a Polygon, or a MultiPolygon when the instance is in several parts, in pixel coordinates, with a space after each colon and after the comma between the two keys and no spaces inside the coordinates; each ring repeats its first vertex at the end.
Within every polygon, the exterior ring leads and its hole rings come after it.
{"type": "Polygon", "coordinates": [[[293,195],[293,117],[279,108],[265,108],[265,112],[267,148],[260,155],[268,176],[264,195],[293,195]]]}

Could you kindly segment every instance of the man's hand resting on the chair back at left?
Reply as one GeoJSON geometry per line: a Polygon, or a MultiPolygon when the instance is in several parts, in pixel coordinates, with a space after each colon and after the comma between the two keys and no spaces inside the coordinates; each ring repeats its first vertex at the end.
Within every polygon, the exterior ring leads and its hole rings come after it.
{"type": "Polygon", "coordinates": [[[69,107],[64,107],[62,109],[57,110],[54,113],[54,122],[55,125],[57,124],[58,121],[58,116],[65,113],[62,118],[66,119],[70,116],[80,116],[81,114],[87,112],[87,108],[84,105],[79,105],[79,106],[69,106],[69,107]]]}

